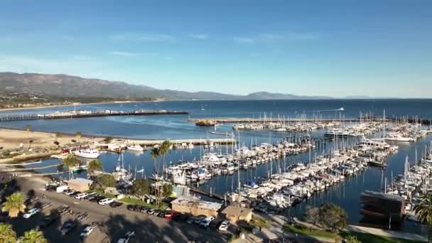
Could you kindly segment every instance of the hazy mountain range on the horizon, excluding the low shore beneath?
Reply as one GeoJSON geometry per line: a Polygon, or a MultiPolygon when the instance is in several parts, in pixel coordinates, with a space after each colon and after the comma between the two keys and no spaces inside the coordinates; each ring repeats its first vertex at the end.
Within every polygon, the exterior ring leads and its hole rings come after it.
{"type": "Polygon", "coordinates": [[[301,96],[270,92],[227,95],[218,92],[158,90],[146,85],[83,78],[71,75],[0,72],[0,93],[40,93],[55,97],[109,97],[119,99],[332,99],[326,96],[301,96]]]}

